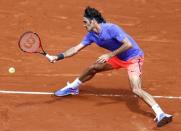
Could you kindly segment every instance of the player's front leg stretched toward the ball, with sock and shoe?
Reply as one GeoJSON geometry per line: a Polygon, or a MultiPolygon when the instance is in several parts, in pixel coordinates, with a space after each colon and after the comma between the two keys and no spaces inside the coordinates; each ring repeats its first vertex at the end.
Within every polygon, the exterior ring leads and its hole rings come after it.
{"type": "Polygon", "coordinates": [[[55,92],[55,96],[66,96],[66,95],[76,95],[79,94],[79,86],[92,79],[96,73],[102,71],[112,70],[112,66],[108,63],[95,63],[88,67],[78,78],[76,78],[72,83],[67,83],[67,85],[55,92]]]}

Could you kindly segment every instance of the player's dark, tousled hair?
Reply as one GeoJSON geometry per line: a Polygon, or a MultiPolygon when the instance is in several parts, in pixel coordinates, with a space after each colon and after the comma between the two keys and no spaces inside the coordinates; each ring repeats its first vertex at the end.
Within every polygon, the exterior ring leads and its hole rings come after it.
{"type": "Polygon", "coordinates": [[[85,9],[84,17],[91,20],[95,19],[97,23],[106,23],[106,20],[102,17],[101,13],[97,9],[89,6],[85,9]]]}

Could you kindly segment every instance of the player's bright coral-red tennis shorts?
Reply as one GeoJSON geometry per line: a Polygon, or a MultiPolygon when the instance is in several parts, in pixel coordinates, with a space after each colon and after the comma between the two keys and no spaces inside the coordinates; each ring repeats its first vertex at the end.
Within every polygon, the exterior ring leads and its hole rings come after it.
{"type": "Polygon", "coordinates": [[[112,65],[114,69],[125,68],[128,71],[128,75],[138,75],[142,74],[141,67],[144,62],[144,57],[136,57],[128,61],[120,60],[119,58],[112,57],[107,61],[108,64],[112,65]]]}

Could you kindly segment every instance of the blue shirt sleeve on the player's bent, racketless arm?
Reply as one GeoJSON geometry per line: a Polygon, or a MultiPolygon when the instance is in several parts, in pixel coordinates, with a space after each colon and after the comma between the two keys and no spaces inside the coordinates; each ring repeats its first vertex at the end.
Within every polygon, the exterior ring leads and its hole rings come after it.
{"type": "Polygon", "coordinates": [[[112,25],[110,32],[112,37],[119,42],[122,42],[126,38],[126,33],[117,25],[112,25]]]}

